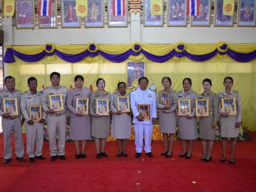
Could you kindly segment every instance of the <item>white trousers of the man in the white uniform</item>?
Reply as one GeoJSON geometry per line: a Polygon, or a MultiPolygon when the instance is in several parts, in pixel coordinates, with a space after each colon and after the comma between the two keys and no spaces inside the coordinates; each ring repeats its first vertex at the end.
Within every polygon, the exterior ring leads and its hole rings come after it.
{"type": "Polygon", "coordinates": [[[135,149],[136,153],[141,153],[143,149],[143,132],[145,139],[144,150],[146,153],[151,152],[151,137],[153,131],[153,124],[141,124],[134,123],[134,133],[135,133],[135,149]]]}

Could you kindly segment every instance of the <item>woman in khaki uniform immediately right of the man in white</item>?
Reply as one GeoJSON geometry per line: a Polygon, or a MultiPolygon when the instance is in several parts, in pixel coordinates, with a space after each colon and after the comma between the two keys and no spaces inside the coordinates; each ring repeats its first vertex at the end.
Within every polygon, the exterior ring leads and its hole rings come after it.
{"type": "Polygon", "coordinates": [[[162,85],[164,89],[158,92],[156,100],[156,107],[159,109],[159,125],[164,141],[164,152],[161,155],[171,157],[177,125],[175,110],[177,109],[178,94],[170,88],[172,85],[170,77],[163,77],[162,85]],[[170,103],[168,105],[166,105],[167,99],[163,100],[162,103],[160,101],[162,92],[170,94],[170,103]]]}

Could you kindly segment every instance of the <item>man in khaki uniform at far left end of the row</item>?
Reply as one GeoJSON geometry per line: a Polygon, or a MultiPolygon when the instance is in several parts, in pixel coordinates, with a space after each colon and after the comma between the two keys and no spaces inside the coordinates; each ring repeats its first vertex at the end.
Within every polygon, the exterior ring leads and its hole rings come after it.
{"type": "Polygon", "coordinates": [[[20,97],[21,92],[15,90],[15,78],[12,76],[7,76],[4,79],[6,89],[0,93],[0,115],[2,115],[2,127],[4,135],[4,164],[10,163],[12,158],[12,146],[11,137],[12,132],[14,133],[15,142],[15,155],[16,159],[20,162],[25,162],[23,158],[24,146],[22,140],[22,130],[21,130],[21,119],[20,119],[20,97]],[[4,113],[3,100],[17,98],[18,105],[18,115],[11,116],[8,113],[4,113]]]}

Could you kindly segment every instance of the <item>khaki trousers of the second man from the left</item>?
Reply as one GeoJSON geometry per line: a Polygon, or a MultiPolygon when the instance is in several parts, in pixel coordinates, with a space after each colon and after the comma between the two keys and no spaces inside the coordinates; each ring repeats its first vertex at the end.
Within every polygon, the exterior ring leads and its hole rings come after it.
{"type": "Polygon", "coordinates": [[[27,138],[27,154],[28,157],[35,157],[42,155],[42,148],[44,142],[44,124],[34,123],[34,125],[29,125],[27,122],[25,124],[26,138],[27,138]],[[36,141],[36,151],[34,153],[36,141]]]}

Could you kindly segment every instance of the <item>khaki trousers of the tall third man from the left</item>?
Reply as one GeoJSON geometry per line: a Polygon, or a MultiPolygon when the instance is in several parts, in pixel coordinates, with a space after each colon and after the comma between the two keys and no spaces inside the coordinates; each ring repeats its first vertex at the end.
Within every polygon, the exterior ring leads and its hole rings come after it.
{"type": "Polygon", "coordinates": [[[66,142],[66,113],[61,116],[47,115],[46,118],[47,131],[49,135],[49,147],[51,156],[65,155],[66,142]],[[58,149],[56,145],[56,137],[58,136],[58,149]]]}

